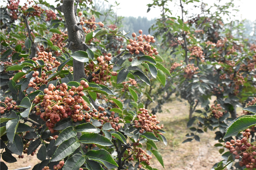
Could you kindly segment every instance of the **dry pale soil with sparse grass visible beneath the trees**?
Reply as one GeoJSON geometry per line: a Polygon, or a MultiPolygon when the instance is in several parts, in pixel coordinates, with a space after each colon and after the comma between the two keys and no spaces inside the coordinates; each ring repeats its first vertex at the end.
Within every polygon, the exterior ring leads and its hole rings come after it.
{"type": "MultiPolygon", "coordinates": [[[[220,147],[214,147],[217,141],[214,140],[213,131],[199,134],[200,142],[193,140],[182,144],[186,139],[185,135],[191,131],[187,129],[188,122],[188,105],[185,101],[173,100],[163,106],[163,112],[157,113],[157,119],[164,124],[164,136],[167,139],[167,146],[162,142],[157,143],[159,152],[164,160],[165,170],[209,170],[212,166],[219,162],[221,154],[218,152],[220,147]]],[[[40,161],[34,156],[24,155],[23,159],[17,157],[17,162],[6,163],[9,169],[17,169],[20,167],[33,166],[40,161]]],[[[3,161],[3,160],[1,160],[3,161]]],[[[153,157],[151,166],[164,170],[161,164],[153,157]]]]}

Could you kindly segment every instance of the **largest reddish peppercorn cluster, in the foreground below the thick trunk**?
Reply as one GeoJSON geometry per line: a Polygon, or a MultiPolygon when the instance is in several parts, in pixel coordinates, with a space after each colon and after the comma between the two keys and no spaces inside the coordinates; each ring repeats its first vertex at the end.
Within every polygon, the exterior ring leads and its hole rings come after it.
{"type": "MultiPolygon", "coordinates": [[[[54,132],[53,127],[55,123],[68,116],[70,116],[74,122],[82,121],[83,117],[85,117],[87,122],[90,121],[90,116],[83,114],[83,110],[89,111],[90,107],[87,106],[82,98],[82,96],[84,96],[84,88],[88,88],[89,85],[84,80],[81,80],[80,84],[81,85],[78,87],[72,86],[68,91],[66,83],[62,83],[57,87],[50,84],[48,88],[44,89],[46,95],[44,95],[43,101],[40,103],[41,108],[36,107],[36,115],[40,115],[41,119],[47,121],[46,126],[52,133],[54,132]],[[41,112],[41,110],[44,110],[44,112],[41,112]]],[[[36,96],[33,103],[37,104],[41,100],[39,96],[36,96]]]]}

